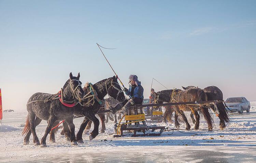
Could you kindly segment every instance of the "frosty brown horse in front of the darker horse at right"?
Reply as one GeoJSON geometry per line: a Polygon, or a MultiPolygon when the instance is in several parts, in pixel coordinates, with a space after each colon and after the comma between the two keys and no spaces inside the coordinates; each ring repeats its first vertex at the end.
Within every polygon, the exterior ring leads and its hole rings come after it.
{"type": "MultiPolygon", "coordinates": [[[[185,91],[182,91],[181,89],[174,90],[173,100],[171,100],[173,89],[163,90],[160,92],[155,93],[156,99],[155,103],[158,103],[159,101],[162,102],[192,102],[192,101],[207,101],[207,95],[203,92],[202,89],[199,88],[192,88],[185,91]]],[[[197,105],[174,105],[175,110],[175,126],[179,128],[179,122],[177,120],[178,115],[180,114],[182,116],[182,119],[186,123],[186,130],[190,129],[190,125],[187,121],[187,118],[183,111],[191,111],[193,112],[194,116],[196,117],[196,123],[195,123],[195,129],[199,129],[199,120],[200,115],[198,114],[198,110],[200,110],[203,113],[204,119],[208,125],[208,130],[211,131],[213,128],[213,117],[210,114],[208,108],[204,106],[197,106],[197,105]]]]}

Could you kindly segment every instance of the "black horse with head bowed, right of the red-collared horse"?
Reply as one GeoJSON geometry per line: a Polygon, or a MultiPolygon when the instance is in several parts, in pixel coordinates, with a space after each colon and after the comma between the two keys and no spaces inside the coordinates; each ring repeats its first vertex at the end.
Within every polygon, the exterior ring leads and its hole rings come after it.
{"type": "MultiPolygon", "coordinates": [[[[113,76],[111,78],[108,79],[104,79],[101,80],[95,84],[93,84],[93,87],[95,89],[95,91],[97,92],[98,95],[98,99],[100,101],[103,101],[103,98],[108,94],[110,97],[117,99],[119,102],[121,102],[122,104],[124,104],[125,102],[127,102],[127,100],[125,99],[125,95],[122,91],[122,88],[120,87],[120,85],[118,84],[117,81],[118,77],[117,76],[113,76]]],[[[85,94],[87,92],[89,92],[87,87],[83,88],[85,94]]],[[[74,112],[74,115],[76,116],[85,116],[78,133],[76,134],[76,140],[78,143],[84,143],[83,142],[83,131],[85,129],[85,127],[87,126],[88,122],[91,120],[94,123],[94,130],[90,133],[90,140],[93,140],[98,134],[99,134],[99,119],[95,116],[95,114],[98,113],[98,111],[101,108],[101,104],[98,102],[98,100],[94,99],[95,102],[93,103],[93,105],[90,106],[82,106],[81,110],[76,110],[74,112]]],[[[67,126],[66,123],[63,123],[63,129],[65,131],[65,135],[66,135],[66,139],[69,139],[70,136],[70,130],[67,126]]]]}

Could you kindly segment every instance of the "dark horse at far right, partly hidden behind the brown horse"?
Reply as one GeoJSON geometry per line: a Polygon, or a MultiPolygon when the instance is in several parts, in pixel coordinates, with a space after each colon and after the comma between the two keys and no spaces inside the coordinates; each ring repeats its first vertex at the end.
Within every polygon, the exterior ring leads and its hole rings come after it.
{"type": "MultiPolygon", "coordinates": [[[[195,86],[187,86],[187,87],[183,87],[182,88],[184,90],[187,90],[187,89],[190,89],[190,88],[196,88],[195,86]]],[[[223,93],[221,91],[221,89],[219,89],[218,87],[216,86],[208,86],[208,87],[205,87],[203,89],[203,91],[205,92],[205,94],[207,95],[207,98],[209,101],[212,101],[212,100],[223,100],[223,93]]],[[[229,118],[229,115],[225,109],[225,105],[223,102],[221,103],[217,103],[216,104],[217,106],[217,110],[215,110],[214,108],[214,105],[211,106],[211,109],[216,113],[216,115],[219,117],[219,128],[220,129],[224,129],[226,127],[226,123],[229,123],[230,122],[230,118],[229,118]]],[[[193,113],[190,114],[190,117],[194,123],[195,119],[194,119],[194,115],[193,113]]]]}

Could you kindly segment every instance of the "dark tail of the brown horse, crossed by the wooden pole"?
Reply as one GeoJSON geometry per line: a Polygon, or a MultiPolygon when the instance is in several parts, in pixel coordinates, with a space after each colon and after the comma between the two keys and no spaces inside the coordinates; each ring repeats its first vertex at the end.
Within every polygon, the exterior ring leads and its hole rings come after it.
{"type": "MultiPolygon", "coordinates": [[[[198,90],[197,95],[198,95],[199,101],[208,100],[207,95],[204,93],[203,90],[198,90]]],[[[209,108],[202,106],[200,107],[200,111],[201,113],[203,113],[203,117],[207,125],[210,128],[213,128],[214,120],[213,120],[213,115],[209,112],[209,108]]]]}

